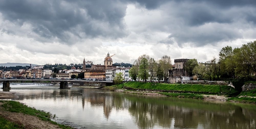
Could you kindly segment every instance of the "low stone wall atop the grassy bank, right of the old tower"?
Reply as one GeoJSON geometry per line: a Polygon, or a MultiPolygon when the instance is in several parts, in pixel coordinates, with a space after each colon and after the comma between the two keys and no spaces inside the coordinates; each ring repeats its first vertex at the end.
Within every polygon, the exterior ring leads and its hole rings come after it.
{"type": "Polygon", "coordinates": [[[205,80],[184,80],[183,84],[202,84],[202,85],[229,85],[228,81],[205,81],[205,80]]]}

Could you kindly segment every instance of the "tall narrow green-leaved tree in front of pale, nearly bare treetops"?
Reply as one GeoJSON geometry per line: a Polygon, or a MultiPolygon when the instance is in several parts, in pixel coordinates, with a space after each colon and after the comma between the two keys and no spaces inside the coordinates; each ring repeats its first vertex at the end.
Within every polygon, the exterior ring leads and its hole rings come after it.
{"type": "Polygon", "coordinates": [[[147,61],[146,58],[142,58],[142,60],[140,62],[139,76],[140,76],[141,79],[144,79],[145,82],[146,82],[147,78],[149,77],[149,74],[148,74],[148,61],[147,61]]]}

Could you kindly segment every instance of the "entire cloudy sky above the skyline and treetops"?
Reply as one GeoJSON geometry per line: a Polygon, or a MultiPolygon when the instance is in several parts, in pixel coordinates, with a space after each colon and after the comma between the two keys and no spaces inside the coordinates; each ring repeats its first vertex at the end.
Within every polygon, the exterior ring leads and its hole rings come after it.
{"type": "Polygon", "coordinates": [[[256,0],[0,0],[0,63],[218,57],[256,40],[256,0]]]}

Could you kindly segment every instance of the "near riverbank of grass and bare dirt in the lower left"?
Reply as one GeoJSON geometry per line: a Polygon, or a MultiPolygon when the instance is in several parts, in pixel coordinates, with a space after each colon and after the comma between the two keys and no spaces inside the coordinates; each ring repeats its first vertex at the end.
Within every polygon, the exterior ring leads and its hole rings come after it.
{"type": "MultiPolygon", "coordinates": [[[[17,98],[13,92],[0,92],[0,98],[17,98]]],[[[0,100],[0,127],[4,129],[72,129],[51,119],[56,115],[15,101],[0,100]]]]}

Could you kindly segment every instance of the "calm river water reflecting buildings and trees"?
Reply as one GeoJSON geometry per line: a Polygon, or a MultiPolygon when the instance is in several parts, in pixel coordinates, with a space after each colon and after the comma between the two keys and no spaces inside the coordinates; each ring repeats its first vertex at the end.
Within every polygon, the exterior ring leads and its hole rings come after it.
{"type": "MultiPolygon", "coordinates": [[[[88,129],[255,129],[256,105],[45,84],[11,84],[16,100],[56,114],[56,122],[88,129]]],[[[2,89],[0,90],[2,91],[2,89]]]]}

